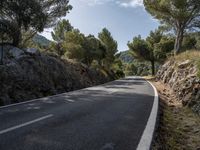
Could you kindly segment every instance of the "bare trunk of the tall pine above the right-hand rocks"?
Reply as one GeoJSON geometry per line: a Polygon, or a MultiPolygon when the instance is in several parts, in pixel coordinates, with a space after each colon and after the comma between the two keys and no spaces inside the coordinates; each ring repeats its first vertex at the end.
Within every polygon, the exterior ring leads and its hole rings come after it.
{"type": "Polygon", "coordinates": [[[176,33],[176,40],[174,45],[174,54],[178,54],[181,50],[182,42],[183,42],[183,34],[184,30],[178,29],[176,33]]]}

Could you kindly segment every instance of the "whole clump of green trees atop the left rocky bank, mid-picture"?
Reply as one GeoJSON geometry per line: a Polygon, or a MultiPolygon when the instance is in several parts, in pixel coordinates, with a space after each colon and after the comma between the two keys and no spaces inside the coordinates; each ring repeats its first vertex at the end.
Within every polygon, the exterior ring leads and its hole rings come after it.
{"type": "Polygon", "coordinates": [[[49,51],[61,58],[72,59],[89,67],[104,70],[113,79],[124,76],[123,65],[118,59],[117,42],[107,29],[99,33],[99,39],[93,35],[85,36],[69,23],[61,20],[52,32],[54,42],[49,51]]]}

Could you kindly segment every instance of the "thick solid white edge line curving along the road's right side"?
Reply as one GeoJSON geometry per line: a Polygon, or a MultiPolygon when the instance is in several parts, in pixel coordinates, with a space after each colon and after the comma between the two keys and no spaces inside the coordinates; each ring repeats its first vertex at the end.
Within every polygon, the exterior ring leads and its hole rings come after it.
{"type": "Polygon", "coordinates": [[[153,107],[151,110],[151,114],[149,116],[147,125],[145,127],[145,130],[143,132],[142,138],[140,139],[140,142],[137,146],[137,150],[149,150],[151,147],[152,139],[153,139],[153,134],[155,131],[155,126],[156,126],[156,120],[157,120],[157,115],[158,115],[158,104],[159,104],[159,98],[158,98],[158,92],[155,88],[155,86],[147,81],[154,89],[154,103],[153,107]]]}

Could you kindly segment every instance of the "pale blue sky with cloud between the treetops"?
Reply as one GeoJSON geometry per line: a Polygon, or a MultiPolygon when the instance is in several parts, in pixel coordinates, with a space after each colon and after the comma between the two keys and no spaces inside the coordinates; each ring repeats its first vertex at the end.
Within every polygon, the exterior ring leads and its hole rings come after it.
{"type": "MultiPolygon", "coordinates": [[[[120,51],[127,50],[127,42],[134,36],[148,36],[158,27],[144,9],[143,0],[70,0],[73,10],[65,17],[82,33],[95,36],[106,27],[118,42],[120,51]]],[[[49,31],[43,33],[51,39],[49,31]]]]}

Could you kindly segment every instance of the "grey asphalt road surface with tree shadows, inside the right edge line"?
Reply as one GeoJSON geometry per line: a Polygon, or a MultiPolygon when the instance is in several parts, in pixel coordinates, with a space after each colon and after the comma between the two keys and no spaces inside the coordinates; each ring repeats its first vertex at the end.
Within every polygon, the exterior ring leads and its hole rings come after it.
{"type": "Polygon", "coordinates": [[[140,78],[0,108],[0,150],[134,150],[154,102],[140,78]]]}

